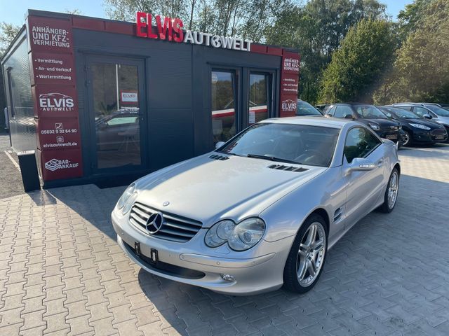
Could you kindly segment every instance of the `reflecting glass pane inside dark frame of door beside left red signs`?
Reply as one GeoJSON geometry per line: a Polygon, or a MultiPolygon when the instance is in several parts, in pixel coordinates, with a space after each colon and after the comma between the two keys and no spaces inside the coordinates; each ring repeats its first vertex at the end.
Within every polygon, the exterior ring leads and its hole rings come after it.
{"type": "Polygon", "coordinates": [[[140,165],[138,68],[93,63],[97,167],[140,165]]]}

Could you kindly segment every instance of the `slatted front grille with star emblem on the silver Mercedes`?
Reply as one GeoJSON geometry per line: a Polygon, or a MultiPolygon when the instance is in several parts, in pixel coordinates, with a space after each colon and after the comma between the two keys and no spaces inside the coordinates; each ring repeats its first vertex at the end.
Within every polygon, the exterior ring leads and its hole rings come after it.
{"type": "Polygon", "coordinates": [[[178,241],[185,243],[196,235],[203,224],[194,219],[169,214],[156,209],[152,209],[145,204],[135,202],[129,215],[129,221],[136,228],[142,230],[152,237],[166,239],[170,241],[178,241]],[[156,212],[161,212],[163,215],[163,223],[161,229],[155,233],[150,234],[147,229],[147,221],[149,216],[156,212]]]}

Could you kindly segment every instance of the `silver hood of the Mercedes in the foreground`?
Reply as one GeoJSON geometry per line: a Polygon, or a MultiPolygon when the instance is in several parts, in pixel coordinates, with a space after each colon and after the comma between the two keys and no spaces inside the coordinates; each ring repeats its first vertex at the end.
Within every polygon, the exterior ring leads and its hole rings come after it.
{"type": "MultiPolygon", "coordinates": [[[[220,218],[236,221],[257,216],[279,198],[314,179],[326,167],[304,167],[304,172],[272,169],[272,165],[289,165],[257,158],[222,155],[225,160],[209,158],[211,154],[149,174],[138,180],[142,190],[137,202],[203,223],[203,228],[220,218]],[[164,202],[170,202],[166,207],[164,202]]],[[[221,155],[221,154],[220,154],[221,155]]]]}

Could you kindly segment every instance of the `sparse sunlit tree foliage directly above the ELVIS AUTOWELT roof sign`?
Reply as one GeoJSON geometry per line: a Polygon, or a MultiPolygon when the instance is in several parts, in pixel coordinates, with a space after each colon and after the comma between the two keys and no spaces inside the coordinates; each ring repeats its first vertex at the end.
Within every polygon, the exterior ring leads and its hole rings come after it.
{"type": "Polygon", "coordinates": [[[135,12],[180,18],[187,29],[262,41],[290,0],[105,0],[109,18],[135,20],[135,12]]]}

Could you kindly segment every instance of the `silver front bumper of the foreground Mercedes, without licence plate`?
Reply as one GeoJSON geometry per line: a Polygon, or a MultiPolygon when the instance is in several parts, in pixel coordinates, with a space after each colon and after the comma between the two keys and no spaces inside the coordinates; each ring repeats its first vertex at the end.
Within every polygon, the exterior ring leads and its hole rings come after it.
{"type": "Polygon", "coordinates": [[[187,243],[178,243],[145,235],[129,223],[127,216],[119,218],[114,212],[112,224],[119,246],[147,272],[232,295],[252,295],[280,288],[283,267],[295,239],[292,236],[274,242],[262,240],[248,251],[220,254],[216,248],[207,248],[203,243],[206,229],[201,229],[187,243]],[[135,253],[135,242],[140,243],[140,256],[135,253]],[[199,244],[204,248],[197,248],[199,244]],[[157,251],[159,263],[146,258],[152,249],[157,251]],[[234,281],[225,281],[220,274],[229,274],[234,281]]]}

